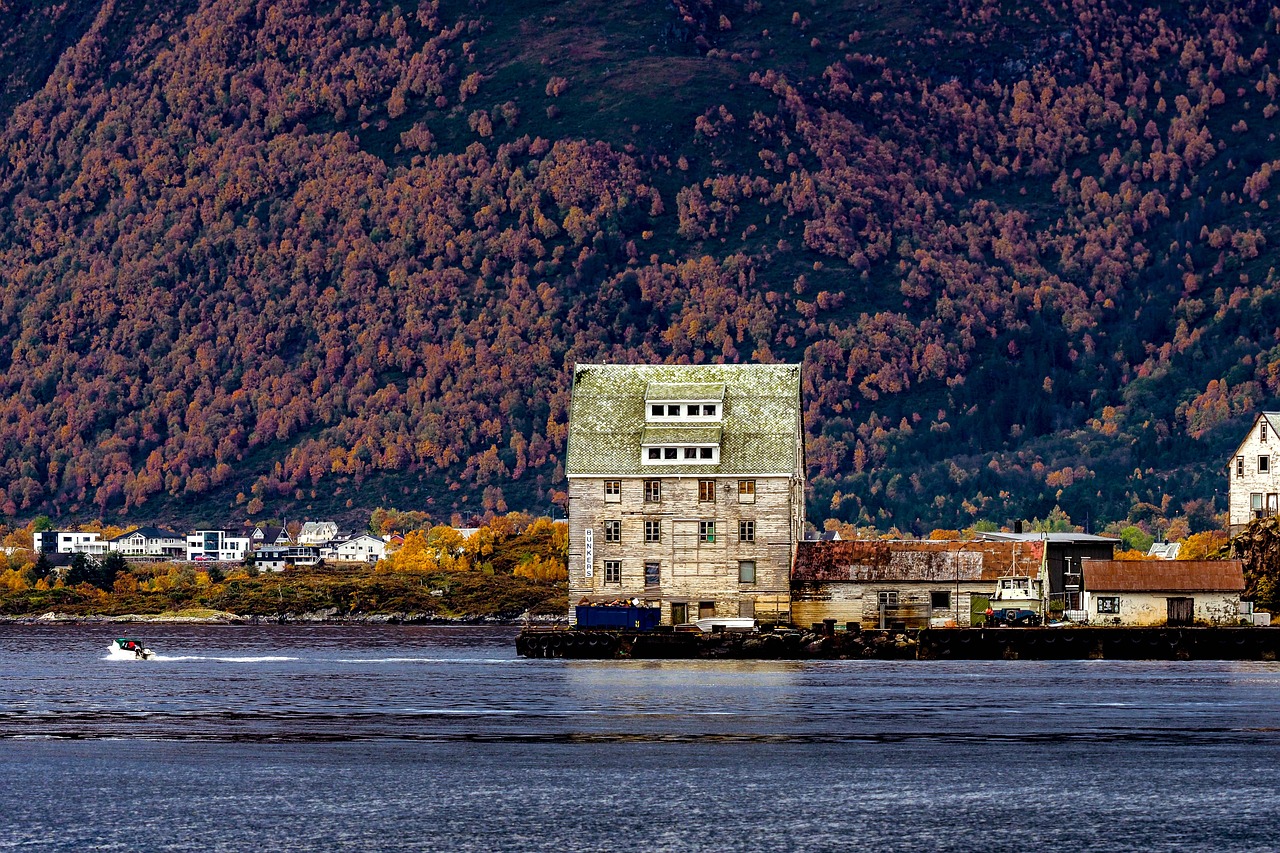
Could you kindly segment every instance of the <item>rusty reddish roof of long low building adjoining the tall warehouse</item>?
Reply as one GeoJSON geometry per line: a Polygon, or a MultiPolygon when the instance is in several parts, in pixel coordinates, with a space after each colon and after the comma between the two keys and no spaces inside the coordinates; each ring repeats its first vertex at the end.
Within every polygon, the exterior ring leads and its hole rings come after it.
{"type": "Polygon", "coordinates": [[[902,542],[845,539],[800,542],[792,580],[852,583],[992,581],[1005,575],[1034,576],[1043,544],[1021,542],[902,542]]]}

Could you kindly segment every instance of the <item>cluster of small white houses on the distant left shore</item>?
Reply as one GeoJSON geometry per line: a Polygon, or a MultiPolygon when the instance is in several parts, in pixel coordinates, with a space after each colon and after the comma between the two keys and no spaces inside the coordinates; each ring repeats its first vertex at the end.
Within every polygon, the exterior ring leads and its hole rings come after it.
{"type": "Polygon", "coordinates": [[[120,553],[132,562],[244,562],[265,571],[315,566],[320,562],[374,564],[387,556],[390,538],[339,529],[334,521],[307,521],[293,533],[261,524],[251,530],[192,530],[137,528],[113,538],[100,533],[44,530],[35,535],[36,553],[51,560],[82,553],[104,557],[120,553]]]}

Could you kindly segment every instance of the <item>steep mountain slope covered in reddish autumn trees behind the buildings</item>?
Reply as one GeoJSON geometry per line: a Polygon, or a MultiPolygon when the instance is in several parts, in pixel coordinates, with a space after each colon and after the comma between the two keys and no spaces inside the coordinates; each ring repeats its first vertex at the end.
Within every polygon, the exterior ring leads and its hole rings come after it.
{"type": "Polygon", "coordinates": [[[813,517],[1203,526],[1277,65],[1225,0],[0,3],[0,512],[536,512],[573,362],[803,360],[813,517]]]}

